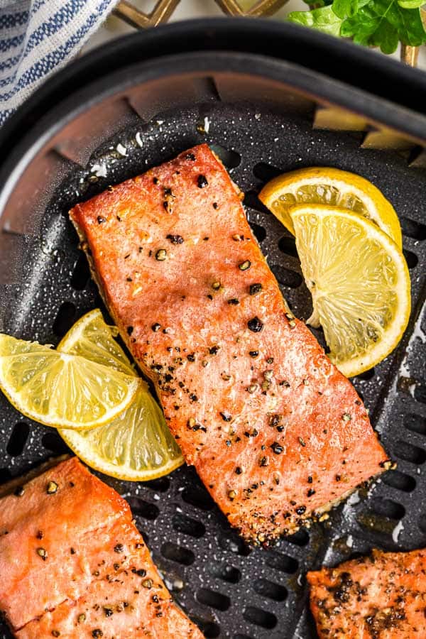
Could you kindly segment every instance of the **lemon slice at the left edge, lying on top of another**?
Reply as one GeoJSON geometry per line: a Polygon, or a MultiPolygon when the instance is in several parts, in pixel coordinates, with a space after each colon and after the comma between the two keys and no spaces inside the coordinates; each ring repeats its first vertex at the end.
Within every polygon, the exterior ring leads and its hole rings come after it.
{"type": "Polygon", "coordinates": [[[133,400],[138,381],[83,357],[0,334],[0,388],[36,422],[85,429],[119,415],[133,400]]]}

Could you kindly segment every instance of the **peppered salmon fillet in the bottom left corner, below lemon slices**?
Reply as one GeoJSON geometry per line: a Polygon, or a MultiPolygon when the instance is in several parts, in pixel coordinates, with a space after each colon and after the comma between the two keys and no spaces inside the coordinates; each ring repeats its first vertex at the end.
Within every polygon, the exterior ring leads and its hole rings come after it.
{"type": "Polygon", "coordinates": [[[129,505],[76,457],[0,499],[0,580],[0,610],[19,638],[167,637],[170,623],[178,638],[202,638],[170,599],[129,505]]]}

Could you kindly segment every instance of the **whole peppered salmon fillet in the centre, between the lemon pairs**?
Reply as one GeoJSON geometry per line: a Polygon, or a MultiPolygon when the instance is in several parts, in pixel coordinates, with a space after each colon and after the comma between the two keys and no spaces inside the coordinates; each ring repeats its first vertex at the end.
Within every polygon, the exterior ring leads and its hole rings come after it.
{"type": "Polygon", "coordinates": [[[285,305],[207,145],[70,218],[187,463],[246,540],[295,532],[388,466],[353,386],[285,305]]]}

